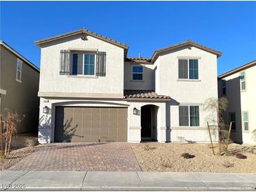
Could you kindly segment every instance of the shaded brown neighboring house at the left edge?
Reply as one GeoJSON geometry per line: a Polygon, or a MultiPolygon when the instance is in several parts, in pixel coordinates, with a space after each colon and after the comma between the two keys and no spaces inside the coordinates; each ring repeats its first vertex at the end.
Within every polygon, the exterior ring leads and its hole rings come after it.
{"type": "Polygon", "coordinates": [[[0,40],[0,113],[17,112],[17,132],[36,132],[39,115],[39,68],[0,40]]]}

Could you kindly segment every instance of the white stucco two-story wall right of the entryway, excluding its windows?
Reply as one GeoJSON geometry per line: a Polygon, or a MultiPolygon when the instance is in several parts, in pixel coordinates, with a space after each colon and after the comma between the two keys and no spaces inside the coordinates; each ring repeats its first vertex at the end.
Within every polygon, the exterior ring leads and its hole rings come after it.
{"type": "MultiPolygon", "coordinates": [[[[171,141],[180,141],[180,137],[184,137],[187,140],[208,142],[210,137],[206,131],[206,122],[216,121],[217,112],[204,110],[203,104],[209,98],[217,100],[217,56],[198,48],[184,47],[163,53],[155,64],[156,92],[172,98],[172,101],[166,104],[166,114],[170,114],[166,117],[166,126],[171,129],[171,141]],[[178,60],[181,57],[198,59],[198,80],[178,78],[178,60]],[[179,126],[180,104],[199,106],[199,127],[179,126]]],[[[217,135],[213,140],[217,140],[217,135]]]]}

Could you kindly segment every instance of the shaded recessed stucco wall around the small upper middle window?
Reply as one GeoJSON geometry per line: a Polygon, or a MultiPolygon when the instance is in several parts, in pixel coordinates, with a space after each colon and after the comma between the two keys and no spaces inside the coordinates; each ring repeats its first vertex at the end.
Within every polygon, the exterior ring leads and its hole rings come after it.
{"type": "Polygon", "coordinates": [[[139,64],[125,62],[124,64],[124,89],[126,90],[154,90],[154,64],[139,64]],[[143,67],[143,80],[133,81],[132,66],[143,67]]]}

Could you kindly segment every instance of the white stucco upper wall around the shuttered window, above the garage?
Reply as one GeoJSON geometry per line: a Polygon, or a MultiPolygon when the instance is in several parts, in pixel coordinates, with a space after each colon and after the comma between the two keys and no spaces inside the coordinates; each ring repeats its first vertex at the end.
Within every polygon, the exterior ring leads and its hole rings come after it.
{"type": "Polygon", "coordinates": [[[40,92],[112,93],[122,97],[123,48],[92,36],[87,36],[87,39],[83,41],[81,35],[74,35],[43,45],[41,48],[40,92]],[[105,51],[107,53],[106,76],[77,78],[76,76],[60,75],[60,50],[76,48],[105,51]]]}

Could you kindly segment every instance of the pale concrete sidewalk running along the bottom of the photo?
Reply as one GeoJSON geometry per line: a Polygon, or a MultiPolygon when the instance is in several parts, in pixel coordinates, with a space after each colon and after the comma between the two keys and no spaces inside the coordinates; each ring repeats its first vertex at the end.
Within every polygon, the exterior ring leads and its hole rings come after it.
{"type": "Polygon", "coordinates": [[[256,174],[182,172],[1,171],[1,191],[213,191],[256,188],[256,174]]]}

